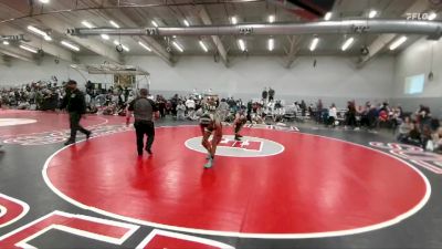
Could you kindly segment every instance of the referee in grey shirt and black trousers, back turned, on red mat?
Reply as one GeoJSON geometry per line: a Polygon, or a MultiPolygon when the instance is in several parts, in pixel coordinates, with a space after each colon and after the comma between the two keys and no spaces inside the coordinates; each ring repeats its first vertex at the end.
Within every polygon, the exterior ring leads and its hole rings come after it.
{"type": "Polygon", "coordinates": [[[134,127],[137,134],[137,152],[138,156],[143,156],[143,145],[145,134],[147,136],[147,142],[145,149],[150,155],[151,145],[154,144],[155,137],[155,127],[154,127],[154,112],[158,112],[158,107],[152,100],[147,98],[148,91],[147,89],[141,89],[139,91],[139,97],[135,98],[130,102],[127,116],[126,124],[129,125],[131,112],[134,112],[134,127]]]}

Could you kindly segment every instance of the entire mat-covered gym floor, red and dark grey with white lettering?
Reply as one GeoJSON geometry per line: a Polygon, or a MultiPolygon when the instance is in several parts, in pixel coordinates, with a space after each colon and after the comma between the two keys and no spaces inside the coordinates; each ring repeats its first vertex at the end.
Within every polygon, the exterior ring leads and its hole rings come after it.
{"type": "Polygon", "coordinates": [[[442,158],[391,132],[225,125],[204,169],[196,123],[124,122],[1,112],[0,248],[442,248],[442,158]]]}

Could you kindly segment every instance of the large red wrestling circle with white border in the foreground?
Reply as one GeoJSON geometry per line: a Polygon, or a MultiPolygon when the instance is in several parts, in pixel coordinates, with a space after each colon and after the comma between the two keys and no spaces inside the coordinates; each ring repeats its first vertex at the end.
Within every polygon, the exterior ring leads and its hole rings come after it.
{"type": "Polygon", "coordinates": [[[301,133],[244,128],[239,144],[228,134],[211,169],[202,167],[199,127],[178,126],[156,129],[150,157],[137,158],[135,133],[124,132],[61,149],[43,175],[64,199],[101,214],[259,238],[379,229],[417,212],[430,195],[422,174],[378,151],[301,133]]]}

